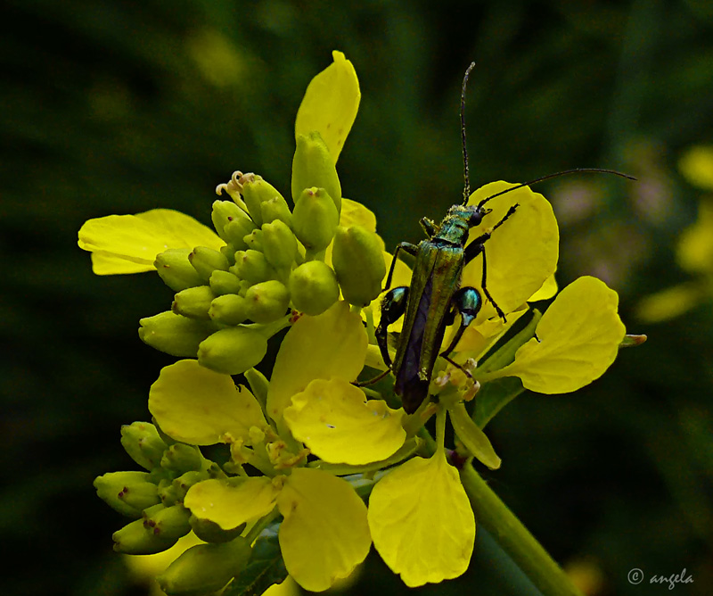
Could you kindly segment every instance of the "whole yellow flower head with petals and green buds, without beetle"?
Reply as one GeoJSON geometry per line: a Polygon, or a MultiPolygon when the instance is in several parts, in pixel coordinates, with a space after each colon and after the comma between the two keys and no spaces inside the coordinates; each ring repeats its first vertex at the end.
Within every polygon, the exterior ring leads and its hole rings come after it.
{"type": "MultiPolygon", "coordinates": [[[[360,95],[351,63],[333,56],[299,108],[292,209],[266,180],[236,172],[217,188],[232,199],[213,204],[217,233],[168,210],[93,219],[79,232],[96,273],[155,269],[176,292],[171,310],[142,319],[139,330],[182,359],[151,387],[152,424],[122,429],[145,471],[95,481],[102,499],[135,518],[114,534],[116,550],[150,554],[186,534],[200,539],[160,575],[168,594],[226,584],[240,593],[285,574],[323,591],[372,543],[409,586],[462,575],[475,518],[453,463],[499,467],[482,431],[488,420],[523,387],[566,393],[590,383],[625,337],[617,294],[593,277],[564,288],[545,314],[530,307],[557,293],[558,230],[545,197],[518,187],[489,202],[471,232],[494,228],[519,204],[488,240],[488,291],[506,317],[489,302],[479,310],[455,351],[437,361],[432,399],[413,415],[392,384],[357,384],[363,372],[387,370],[375,329],[391,257],[373,214],[341,195],[336,162],[360,95]],[[255,367],[285,327],[268,380],[255,367]],[[239,374],[247,385],[235,385],[239,374]],[[515,385],[494,383],[505,377],[515,385]],[[434,415],[435,440],[423,426],[434,415]],[[447,418],[455,451],[446,448],[447,418]],[[211,461],[201,447],[216,444],[225,457],[211,461]],[[279,556],[263,557],[275,535],[279,556]]],[[[470,203],[513,186],[483,186],[470,203]]],[[[468,264],[461,286],[482,291],[482,268],[480,259],[468,264]]],[[[393,285],[409,279],[397,261],[393,285]]],[[[391,326],[392,338],[400,326],[391,326]]]]}

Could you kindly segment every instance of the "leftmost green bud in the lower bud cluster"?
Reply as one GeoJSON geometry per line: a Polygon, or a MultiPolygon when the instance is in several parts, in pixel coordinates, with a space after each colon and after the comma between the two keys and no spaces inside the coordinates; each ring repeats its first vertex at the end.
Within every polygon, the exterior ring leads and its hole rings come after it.
{"type": "Polygon", "coordinates": [[[94,479],[102,501],[127,517],[140,517],[143,509],[160,502],[158,487],[148,472],[109,472],[94,479]]]}

